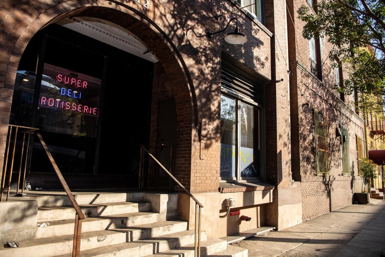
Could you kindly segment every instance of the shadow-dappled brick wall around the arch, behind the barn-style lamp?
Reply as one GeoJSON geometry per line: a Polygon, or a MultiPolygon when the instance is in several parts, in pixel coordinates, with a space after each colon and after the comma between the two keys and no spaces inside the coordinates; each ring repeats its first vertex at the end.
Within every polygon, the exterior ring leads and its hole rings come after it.
{"type": "MultiPolygon", "coordinates": [[[[271,77],[271,51],[268,30],[245,11],[225,15],[219,20],[214,12],[225,13],[239,6],[232,1],[151,1],[149,9],[134,0],[1,2],[0,88],[11,96],[18,62],[31,37],[42,27],[69,16],[90,16],[115,22],[130,30],[152,50],[167,74],[177,105],[176,177],[192,192],[218,190],[219,182],[219,102],[221,53],[227,54],[271,77]],[[213,10],[214,8],[214,10],[213,10]],[[219,30],[231,17],[249,42],[230,45],[223,41],[226,32],[211,39],[195,37],[206,29],[219,30]],[[199,125],[202,124],[200,127],[199,125]],[[210,126],[208,125],[210,124],[210,126]],[[200,129],[202,128],[202,129],[200,129]],[[206,140],[200,140],[201,134],[206,140]]],[[[0,122],[9,120],[9,97],[0,99],[0,122]]],[[[2,126],[0,154],[4,152],[6,126],[2,126]]],[[[2,157],[3,158],[3,157],[2,157]]]]}

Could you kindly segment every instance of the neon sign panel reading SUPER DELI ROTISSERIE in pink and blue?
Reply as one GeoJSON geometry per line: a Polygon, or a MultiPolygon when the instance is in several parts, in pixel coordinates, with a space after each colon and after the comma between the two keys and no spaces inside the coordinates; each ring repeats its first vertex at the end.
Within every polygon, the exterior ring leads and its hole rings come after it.
{"type": "Polygon", "coordinates": [[[54,133],[96,136],[101,80],[44,64],[39,95],[39,128],[54,133]]]}

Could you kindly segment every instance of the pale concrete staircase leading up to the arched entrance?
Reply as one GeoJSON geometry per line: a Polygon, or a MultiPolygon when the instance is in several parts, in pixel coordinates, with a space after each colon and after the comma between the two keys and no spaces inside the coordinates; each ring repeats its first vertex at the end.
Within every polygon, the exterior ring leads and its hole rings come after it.
{"type": "MultiPolygon", "coordinates": [[[[82,221],[80,256],[192,257],[194,230],[177,219],[177,194],[75,194],[86,218],[82,221]]],[[[66,195],[35,195],[37,223],[17,248],[0,247],[0,256],[72,256],[75,210],[66,195]]],[[[8,241],[10,241],[8,240],[8,241]]],[[[246,257],[247,250],[207,237],[201,231],[201,256],[246,257]]]]}

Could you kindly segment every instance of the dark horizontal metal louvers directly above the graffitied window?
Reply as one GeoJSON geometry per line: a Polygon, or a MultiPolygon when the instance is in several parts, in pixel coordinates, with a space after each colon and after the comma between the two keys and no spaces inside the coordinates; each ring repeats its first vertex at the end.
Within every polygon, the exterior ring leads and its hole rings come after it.
{"type": "Polygon", "coordinates": [[[236,74],[234,71],[226,66],[222,66],[221,83],[238,94],[242,94],[255,102],[261,103],[261,86],[256,80],[245,74],[236,74]]]}

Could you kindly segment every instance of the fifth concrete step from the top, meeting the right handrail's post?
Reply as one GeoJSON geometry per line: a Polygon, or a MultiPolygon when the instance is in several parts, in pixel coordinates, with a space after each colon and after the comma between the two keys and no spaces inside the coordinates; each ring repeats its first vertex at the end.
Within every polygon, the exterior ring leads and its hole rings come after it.
{"type": "MultiPolygon", "coordinates": [[[[154,237],[146,240],[115,244],[105,247],[94,248],[80,252],[81,257],[143,257],[156,254],[176,247],[181,247],[194,242],[194,230],[172,233],[162,237],[154,237]]],[[[206,240],[206,232],[201,231],[201,238],[206,240]]],[[[58,257],[71,257],[71,254],[59,255],[58,257]]],[[[156,255],[158,256],[158,255],[156,255]]],[[[170,255],[167,255],[170,257],[170,255]]],[[[179,255],[180,257],[180,255],[179,255]]]]}

